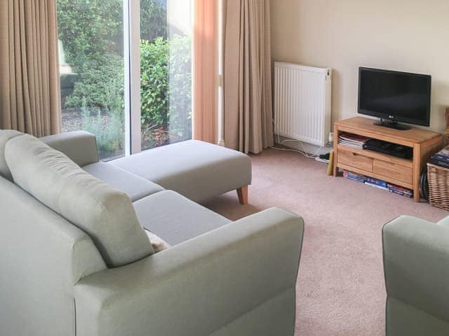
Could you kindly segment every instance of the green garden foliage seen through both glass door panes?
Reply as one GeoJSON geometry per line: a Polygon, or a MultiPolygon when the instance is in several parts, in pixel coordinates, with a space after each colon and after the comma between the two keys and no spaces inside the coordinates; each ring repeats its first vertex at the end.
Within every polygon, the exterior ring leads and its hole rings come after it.
{"type": "MultiPolygon", "coordinates": [[[[103,157],[123,152],[123,0],[57,0],[59,38],[76,75],[62,103],[79,110],[83,130],[98,137],[103,157]]],[[[191,137],[191,38],[168,38],[164,0],[141,0],[141,121],[145,148],[191,137]]],[[[68,79],[68,78],[67,78],[68,79]]],[[[67,91],[65,91],[67,92],[67,91]]]]}

